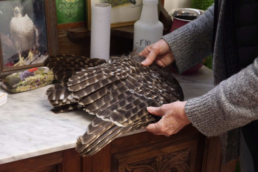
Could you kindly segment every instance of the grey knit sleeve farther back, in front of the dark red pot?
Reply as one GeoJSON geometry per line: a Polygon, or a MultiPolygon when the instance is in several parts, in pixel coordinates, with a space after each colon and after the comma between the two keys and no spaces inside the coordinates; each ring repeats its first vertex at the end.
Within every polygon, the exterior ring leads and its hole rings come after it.
{"type": "Polygon", "coordinates": [[[169,44],[175,58],[173,66],[179,73],[212,54],[213,10],[214,5],[198,19],[162,37],[169,44]]]}

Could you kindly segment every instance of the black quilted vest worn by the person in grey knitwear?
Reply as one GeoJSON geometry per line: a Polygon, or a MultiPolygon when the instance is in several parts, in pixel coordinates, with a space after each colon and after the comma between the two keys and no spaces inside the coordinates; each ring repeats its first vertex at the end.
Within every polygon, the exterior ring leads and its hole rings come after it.
{"type": "MultiPolygon", "coordinates": [[[[220,4],[221,0],[215,0],[213,42],[220,4]]],[[[230,77],[258,57],[258,0],[226,0],[226,9],[224,46],[227,77],[230,77]]],[[[254,161],[254,169],[258,172],[258,121],[242,127],[242,132],[254,161]]]]}

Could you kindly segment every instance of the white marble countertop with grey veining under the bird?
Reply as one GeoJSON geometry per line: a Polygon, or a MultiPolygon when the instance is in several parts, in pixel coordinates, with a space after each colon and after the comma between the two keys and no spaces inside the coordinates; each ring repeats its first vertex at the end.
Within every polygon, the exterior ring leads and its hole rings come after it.
{"type": "MultiPolygon", "coordinates": [[[[212,71],[204,66],[197,74],[175,77],[185,100],[213,88],[212,71]]],[[[73,148],[77,137],[87,130],[93,115],[50,111],[45,95],[50,86],[21,93],[10,93],[0,86],[0,92],[8,93],[7,103],[0,107],[0,164],[73,148]]]]}

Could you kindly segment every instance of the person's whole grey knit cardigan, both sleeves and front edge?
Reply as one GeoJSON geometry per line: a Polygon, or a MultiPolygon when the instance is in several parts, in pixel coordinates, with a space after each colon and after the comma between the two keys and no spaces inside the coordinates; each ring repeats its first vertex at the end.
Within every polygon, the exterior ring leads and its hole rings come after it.
{"type": "MultiPolygon", "coordinates": [[[[225,1],[221,1],[213,53],[215,88],[185,106],[192,124],[206,136],[220,136],[224,162],[239,155],[239,127],[258,119],[258,58],[230,78],[226,77],[223,46],[225,1]]],[[[212,53],[214,5],[198,19],[163,36],[182,73],[212,53]]]]}

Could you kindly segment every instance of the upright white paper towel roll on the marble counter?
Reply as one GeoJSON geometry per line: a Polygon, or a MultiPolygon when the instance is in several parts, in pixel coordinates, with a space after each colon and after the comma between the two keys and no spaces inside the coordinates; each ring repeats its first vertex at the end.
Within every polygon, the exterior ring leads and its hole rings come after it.
{"type": "Polygon", "coordinates": [[[109,60],[111,5],[95,4],[91,7],[90,58],[109,60]]]}

